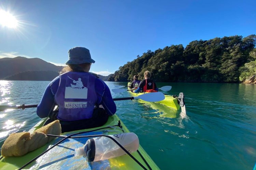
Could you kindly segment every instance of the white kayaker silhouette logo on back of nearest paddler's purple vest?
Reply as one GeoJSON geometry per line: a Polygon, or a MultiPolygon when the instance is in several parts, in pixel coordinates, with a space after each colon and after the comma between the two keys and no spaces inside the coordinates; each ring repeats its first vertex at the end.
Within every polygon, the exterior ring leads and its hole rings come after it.
{"type": "Polygon", "coordinates": [[[77,77],[76,75],[68,75],[65,89],[65,99],[87,99],[88,78],[77,77]]]}

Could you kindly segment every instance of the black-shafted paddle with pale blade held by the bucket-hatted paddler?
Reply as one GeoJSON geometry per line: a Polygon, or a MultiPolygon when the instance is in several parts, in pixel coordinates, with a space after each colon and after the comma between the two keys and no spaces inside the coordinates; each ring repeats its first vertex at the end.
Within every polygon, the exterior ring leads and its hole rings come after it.
{"type": "MultiPolygon", "coordinates": [[[[118,100],[133,100],[133,99],[141,99],[147,102],[158,102],[161,100],[165,99],[165,95],[161,92],[154,92],[154,93],[147,93],[147,94],[143,94],[140,95],[138,97],[126,97],[126,98],[114,98],[114,101],[118,101],[118,100]]],[[[32,108],[32,107],[37,107],[38,104],[33,104],[33,105],[19,105],[19,106],[8,106],[8,105],[2,105],[0,106],[0,112],[4,111],[6,109],[25,109],[25,108],[32,108]]]]}

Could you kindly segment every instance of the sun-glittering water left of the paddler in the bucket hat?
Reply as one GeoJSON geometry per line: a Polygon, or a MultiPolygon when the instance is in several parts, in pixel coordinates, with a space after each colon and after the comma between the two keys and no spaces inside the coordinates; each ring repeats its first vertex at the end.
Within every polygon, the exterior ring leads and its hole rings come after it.
{"type": "MultiPolygon", "coordinates": [[[[0,81],[0,105],[39,103],[48,81],[0,81]]],[[[11,133],[28,131],[40,118],[35,108],[0,112],[0,147],[11,133]]]]}

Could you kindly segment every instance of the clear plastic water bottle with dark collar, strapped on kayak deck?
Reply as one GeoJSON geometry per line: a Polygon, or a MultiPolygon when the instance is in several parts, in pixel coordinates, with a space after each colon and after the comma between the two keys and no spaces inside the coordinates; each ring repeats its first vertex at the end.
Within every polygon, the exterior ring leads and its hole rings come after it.
{"type": "MultiPolygon", "coordinates": [[[[120,143],[129,153],[139,148],[139,139],[135,133],[121,133],[109,135],[120,143]]],[[[84,156],[88,162],[109,159],[126,154],[112,139],[108,137],[97,137],[87,140],[81,148],[75,149],[75,156],[84,156]]]]}

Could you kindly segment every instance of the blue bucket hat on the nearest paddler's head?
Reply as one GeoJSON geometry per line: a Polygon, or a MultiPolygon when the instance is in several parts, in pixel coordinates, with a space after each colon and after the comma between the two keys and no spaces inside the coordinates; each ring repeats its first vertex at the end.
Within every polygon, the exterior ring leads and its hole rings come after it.
{"type": "Polygon", "coordinates": [[[74,47],[69,50],[69,60],[66,64],[95,63],[91,59],[90,51],[84,47],[74,47]]]}

